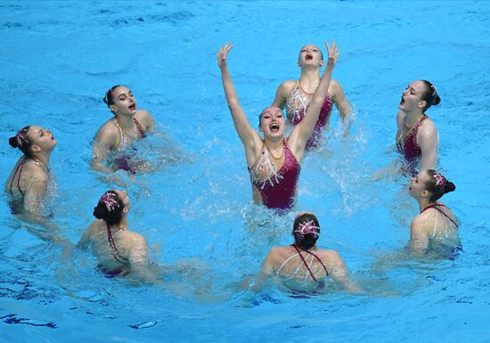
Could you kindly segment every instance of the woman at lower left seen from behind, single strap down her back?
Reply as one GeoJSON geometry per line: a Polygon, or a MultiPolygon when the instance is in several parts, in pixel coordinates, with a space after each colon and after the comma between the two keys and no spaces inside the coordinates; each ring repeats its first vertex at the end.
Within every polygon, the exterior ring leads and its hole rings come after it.
{"type": "Polygon", "coordinates": [[[83,233],[78,248],[90,247],[98,258],[97,269],[107,277],[135,275],[145,281],[154,281],[148,270],[146,240],[127,228],[127,214],[131,201],[124,191],[105,192],[94,216],[97,220],[83,233]]]}

